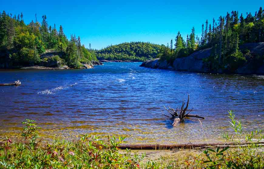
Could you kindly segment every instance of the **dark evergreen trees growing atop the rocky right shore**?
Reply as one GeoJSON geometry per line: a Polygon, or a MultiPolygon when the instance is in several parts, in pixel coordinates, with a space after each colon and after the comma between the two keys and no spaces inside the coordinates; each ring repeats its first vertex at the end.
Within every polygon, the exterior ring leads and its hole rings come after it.
{"type": "MultiPolygon", "coordinates": [[[[238,11],[232,11],[225,16],[219,16],[212,23],[206,20],[201,26],[201,37],[195,34],[195,28],[187,35],[186,40],[180,31],[175,39],[171,39],[167,46],[162,45],[159,57],[173,62],[176,58],[189,56],[191,53],[212,48],[211,57],[207,61],[211,69],[220,67],[237,67],[246,62],[246,52],[240,51],[239,45],[244,43],[264,42],[264,12],[262,7],[255,15],[246,13],[239,15],[238,11]]],[[[262,57],[262,56],[259,56],[262,57]]],[[[263,57],[260,58],[263,60],[263,57]]]]}

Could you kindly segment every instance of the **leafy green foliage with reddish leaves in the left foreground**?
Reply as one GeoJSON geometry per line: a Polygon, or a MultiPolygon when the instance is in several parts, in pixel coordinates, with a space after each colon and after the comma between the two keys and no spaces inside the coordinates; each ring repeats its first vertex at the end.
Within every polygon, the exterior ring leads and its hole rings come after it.
{"type": "Polygon", "coordinates": [[[38,128],[32,122],[23,122],[26,126],[22,135],[31,140],[29,143],[12,143],[7,137],[0,146],[0,168],[156,168],[154,162],[143,162],[144,154],[132,154],[128,149],[120,153],[117,147],[124,143],[125,137],[108,137],[103,141],[85,134],[80,141],[58,139],[33,147],[31,142],[37,138],[38,128]]]}

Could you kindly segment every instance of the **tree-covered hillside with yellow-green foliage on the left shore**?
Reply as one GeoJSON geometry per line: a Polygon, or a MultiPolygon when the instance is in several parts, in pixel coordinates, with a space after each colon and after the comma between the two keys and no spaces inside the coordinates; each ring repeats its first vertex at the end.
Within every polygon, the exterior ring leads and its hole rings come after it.
{"type": "Polygon", "coordinates": [[[71,35],[67,39],[62,25],[59,29],[55,24],[49,25],[46,15],[41,22],[34,20],[26,24],[22,13],[0,13],[0,68],[36,65],[80,68],[81,63],[96,60],[95,53],[81,44],[80,37],[71,35]]]}

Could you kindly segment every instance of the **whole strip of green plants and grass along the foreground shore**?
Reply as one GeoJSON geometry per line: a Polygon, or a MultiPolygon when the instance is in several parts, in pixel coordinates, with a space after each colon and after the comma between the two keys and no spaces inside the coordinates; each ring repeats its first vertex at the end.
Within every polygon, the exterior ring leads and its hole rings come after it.
{"type": "Polygon", "coordinates": [[[203,150],[175,150],[170,155],[151,159],[146,154],[131,150],[120,151],[118,145],[125,137],[82,135],[79,141],[53,140],[47,143],[39,138],[33,120],[22,122],[23,140],[13,142],[6,137],[0,144],[0,168],[264,168],[264,151],[260,145],[262,131],[244,133],[242,124],[229,111],[232,134],[224,134],[235,147],[209,147],[203,150]],[[247,146],[241,146],[248,143],[247,146]]]}

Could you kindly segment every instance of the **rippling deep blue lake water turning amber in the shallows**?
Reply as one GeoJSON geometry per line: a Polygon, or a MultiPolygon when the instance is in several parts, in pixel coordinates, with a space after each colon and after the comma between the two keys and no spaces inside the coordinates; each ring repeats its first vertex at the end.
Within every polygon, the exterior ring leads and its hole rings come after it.
{"type": "Polygon", "coordinates": [[[244,130],[263,129],[264,76],[213,75],[104,63],[93,69],[0,70],[0,140],[16,137],[21,121],[36,120],[45,138],[80,134],[127,136],[129,144],[216,142],[228,128],[228,110],[244,130]],[[190,94],[192,114],[177,127],[162,116],[190,94]]]}

